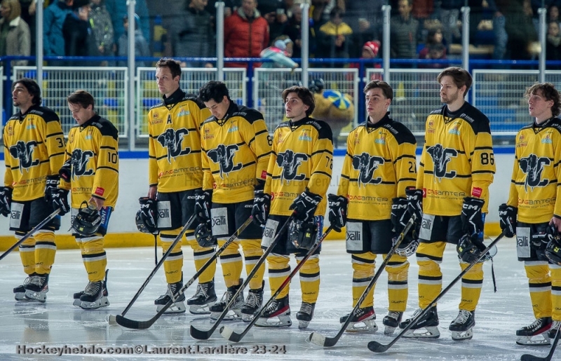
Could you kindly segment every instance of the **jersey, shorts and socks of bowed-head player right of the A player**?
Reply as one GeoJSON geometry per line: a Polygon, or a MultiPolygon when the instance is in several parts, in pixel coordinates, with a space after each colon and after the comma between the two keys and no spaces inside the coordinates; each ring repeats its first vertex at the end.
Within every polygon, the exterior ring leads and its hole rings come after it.
{"type": "MultiPolygon", "coordinates": [[[[271,156],[271,137],[263,115],[255,109],[230,102],[224,119],[215,116],[201,125],[203,148],[203,190],[212,191],[212,235],[220,247],[251,216],[254,186],[265,182],[271,156]]],[[[250,224],[238,236],[243,240],[245,271],[250,273],[262,256],[262,229],[250,224]]],[[[222,254],[220,263],[226,287],[237,285],[243,262],[240,242],[231,243],[222,254]]],[[[259,268],[250,289],[262,287],[265,266],[259,268]]]]}

